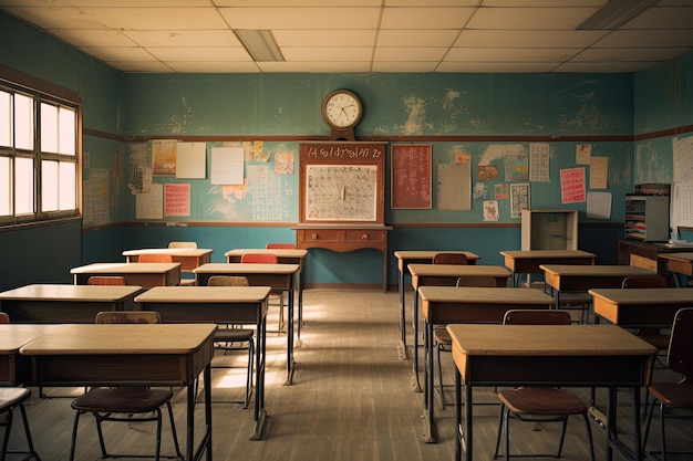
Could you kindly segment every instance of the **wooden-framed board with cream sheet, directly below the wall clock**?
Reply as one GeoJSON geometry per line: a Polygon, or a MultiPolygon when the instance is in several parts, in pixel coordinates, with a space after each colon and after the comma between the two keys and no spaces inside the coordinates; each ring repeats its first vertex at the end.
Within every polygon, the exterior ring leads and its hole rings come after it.
{"type": "Polygon", "coordinates": [[[301,223],[384,223],[385,143],[301,143],[301,223]]]}

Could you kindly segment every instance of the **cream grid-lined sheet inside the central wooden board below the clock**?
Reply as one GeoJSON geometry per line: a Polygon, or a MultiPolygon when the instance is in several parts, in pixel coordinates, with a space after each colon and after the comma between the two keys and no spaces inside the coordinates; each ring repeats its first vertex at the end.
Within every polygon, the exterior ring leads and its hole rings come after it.
{"type": "Polygon", "coordinates": [[[307,165],[306,220],[376,221],[376,165],[307,165]]]}

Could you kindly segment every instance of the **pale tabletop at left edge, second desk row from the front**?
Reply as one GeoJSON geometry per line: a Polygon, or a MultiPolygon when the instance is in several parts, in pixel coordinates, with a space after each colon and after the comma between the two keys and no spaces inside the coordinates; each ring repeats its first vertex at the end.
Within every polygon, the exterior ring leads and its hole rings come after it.
{"type": "Polygon", "coordinates": [[[0,293],[0,302],[2,300],[113,302],[126,298],[141,290],[142,286],[134,285],[32,284],[0,293]]]}

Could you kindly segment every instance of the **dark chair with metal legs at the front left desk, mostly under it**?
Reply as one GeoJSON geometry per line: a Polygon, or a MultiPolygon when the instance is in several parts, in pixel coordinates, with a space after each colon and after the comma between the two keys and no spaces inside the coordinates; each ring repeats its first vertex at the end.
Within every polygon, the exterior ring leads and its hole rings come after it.
{"type": "MultiPolygon", "coordinates": [[[[149,311],[110,311],[96,314],[96,323],[161,323],[162,318],[156,312],[149,311]]],[[[126,366],[126,364],[124,364],[126,366]]],[[[154,455],[145,458],[154,458],[157,461],[161,458],[162,442],[162,407],[165,405],[168,409],[168,419],[173,433],[173,441],[176,450],[175,458],[183,459],[180,447],[178,446],[178,437],[176,434],[176,423],[174,421],[173,408],[170,399],[173,391],[170,389],[151,389],[143,386],[123,386],[111,388],[92,388],[83,396],[72,401],[72,408],[75,410],[74,423],[72,427],[72,441],[70,447],[70,460],[74,460],[74,451],[76,448],[77,427],[80,416],[82,413],[92,413],[96,420],[96,431],[99,434],[99,444],[101,447],[102,458],[142,458],[132,454],[110,454],[104,443],[101,423],[103,421],[126,422],[147,422],[156,421],[156,449],[154,455]],[[153,413],[145,416],[147,413],[153,413]],[[134,418],[139,415],[139,418],[134,418]]],[[[174,458],[174,457],[167,457],[174,458]]]]}

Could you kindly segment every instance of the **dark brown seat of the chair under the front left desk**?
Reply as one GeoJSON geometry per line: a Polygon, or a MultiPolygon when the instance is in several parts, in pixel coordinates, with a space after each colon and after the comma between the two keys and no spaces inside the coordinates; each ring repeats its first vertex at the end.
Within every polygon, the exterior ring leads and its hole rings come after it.
{"type": "Polygon", "coordinates": [[[72,408],[81,411],[145,413],[156,411],[173,397],[168,389],[146,387],[95,388],[75,398],[72,408]]]}

